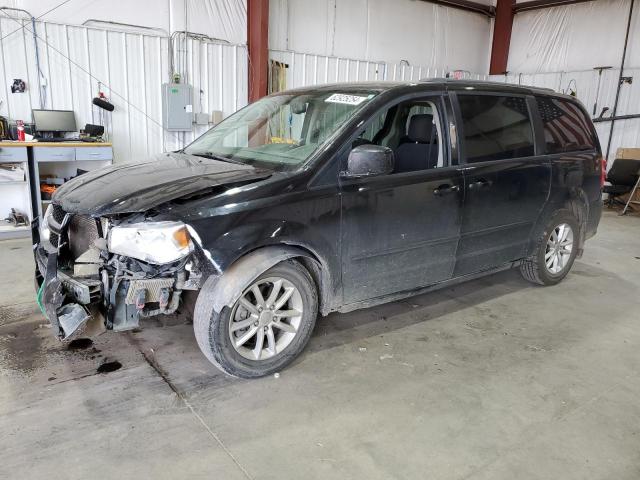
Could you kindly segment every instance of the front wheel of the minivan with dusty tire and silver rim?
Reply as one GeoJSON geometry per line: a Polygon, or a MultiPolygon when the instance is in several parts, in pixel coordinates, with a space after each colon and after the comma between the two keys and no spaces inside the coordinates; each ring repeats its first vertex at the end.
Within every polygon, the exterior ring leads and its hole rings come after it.
{"type": "Polygon", "coordinates": [[[193,321],[198,345],[234,377],[263,377],[286,367],[306,346],[318,315],[316,286],[295,260],[264,272],[220,313],[206,291],[201,295],[193,321]]]}

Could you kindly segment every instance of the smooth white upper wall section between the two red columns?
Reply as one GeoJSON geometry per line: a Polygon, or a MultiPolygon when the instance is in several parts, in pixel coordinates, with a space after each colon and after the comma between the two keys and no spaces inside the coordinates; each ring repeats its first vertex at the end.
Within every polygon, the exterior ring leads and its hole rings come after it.
{"type": "Polygon", "coordinates": [[[491,20],[415,0],[270,0],[269,47],[486,72],[491,20]]]}

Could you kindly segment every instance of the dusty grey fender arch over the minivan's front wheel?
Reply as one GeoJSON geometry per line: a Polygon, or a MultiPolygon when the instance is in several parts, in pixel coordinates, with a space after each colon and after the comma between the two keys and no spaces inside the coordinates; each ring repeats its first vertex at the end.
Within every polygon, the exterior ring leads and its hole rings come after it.
{"type": "Polygon", "coordinates": [[[306,257],[315,261],[301,248],[286,245],[260,248],[240,258],[221,275],[211,275],[202,286],[200,295],[213,298],[213,309],[219,314],[225,306],[232,307],[244,288],[260,274],[294,257],[306,257]]]}

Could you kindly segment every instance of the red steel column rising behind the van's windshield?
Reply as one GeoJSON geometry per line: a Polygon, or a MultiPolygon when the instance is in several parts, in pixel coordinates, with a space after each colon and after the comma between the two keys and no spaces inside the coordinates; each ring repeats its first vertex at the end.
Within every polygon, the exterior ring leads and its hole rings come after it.
{"type": "Polygon", "coordinates": [[[267,94],[269,74],[269,0],[247,0],[249,102],[267,94]]]}

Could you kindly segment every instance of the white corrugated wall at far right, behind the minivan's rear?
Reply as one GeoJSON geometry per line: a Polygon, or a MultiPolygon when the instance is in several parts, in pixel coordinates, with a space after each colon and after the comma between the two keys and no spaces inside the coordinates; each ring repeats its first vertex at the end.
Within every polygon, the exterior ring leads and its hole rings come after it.
{"type": "MultiPolygon", "coordinates": [[[[635,79],[640,78],[640,68],[625,68],[625,76],[635,79]]],[[[569,93],[570,89],[576,91],[576,96],[587,108],[592,117],[600,115],[603,107],[609,107],[605,114],[610,116],[616,96],[619,68],[611,68],[602,71],[600,90],[598,91],[598,71],[578,70],[573,72],[549,72],[536,74],[494,75],[490,78],[495,81],[515,83],[520,85],[533,85],[536,87],[551,88],[557,92],[569,93]],[[597,103],[597,105],[596,105],[597,103]],[[594,105],[596,112],[594,113],[594,105]]],[[[617,115],[631,115],[640,113],[640,82],[625,83],[620,91],[617,115]]],[[[607,142],[611,122],[598,122],[595,124],[602,145],[603,154],[606,153],[607,142]]],[[[611,151],[609,154],[609,166],[615,158],[616,150],[620,147],[637,147],[640,145],[640,119],[618,120],[615,122],[611,151]]]]}

